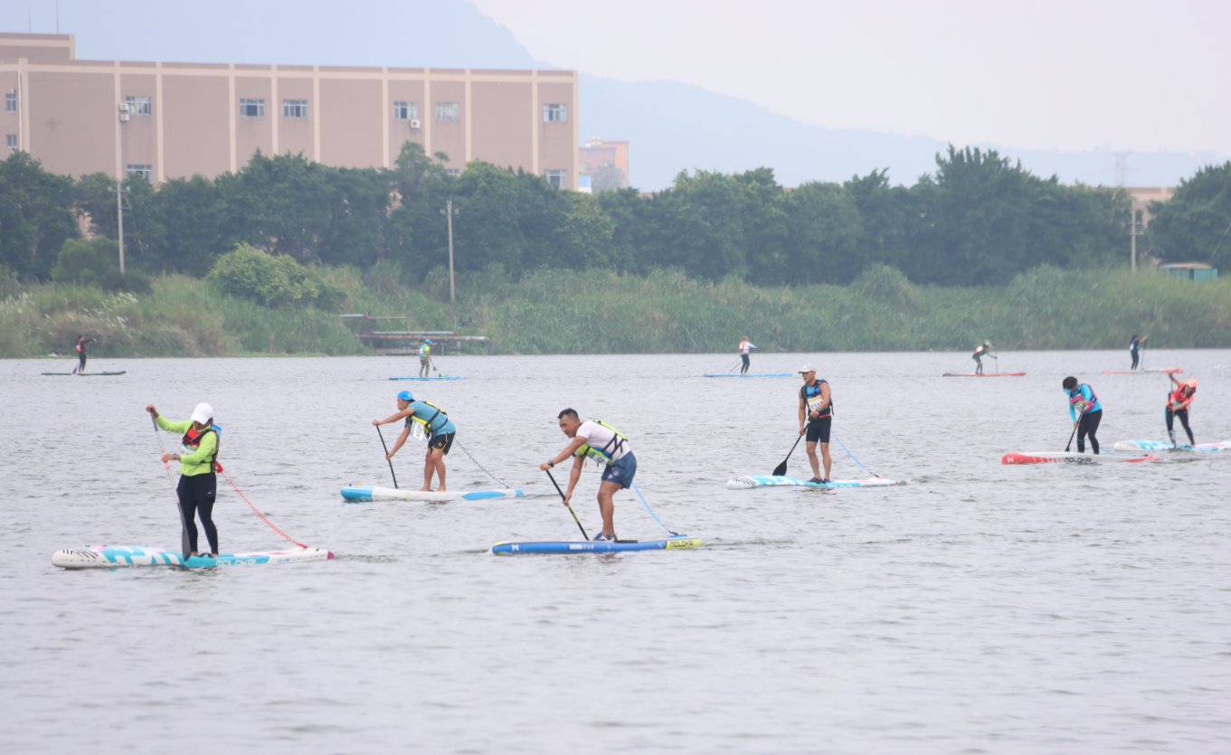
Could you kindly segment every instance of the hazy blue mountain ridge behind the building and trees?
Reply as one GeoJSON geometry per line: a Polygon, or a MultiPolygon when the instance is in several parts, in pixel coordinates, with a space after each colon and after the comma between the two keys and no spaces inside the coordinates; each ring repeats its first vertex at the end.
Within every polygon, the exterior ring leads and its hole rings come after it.
{"type": "MultiPolygon", "coordinates": [[[[464,0],[60,0],[60,30],[76,34],[78,57],[101,60],[185,60],[435,68],[555,68],[535,60],[508,28],[464,0]]],[[[34,31],[53,32],[52,4],[34,7],[34,31]]],[[[0,27],[26,31],[26,5],[0,10],[0,27]]],[[[747,100],[673,81],[625,84],[582,75],[581,138],[632,141],[634,186],[670,184],[673,171],[773,167],[779,181],[842,181],[888,167],[913,183],[934,167],[945,140],[799,123],[747,100]]],[[[986,146],[986,145],[985,145],[986,146]]],[[[1002,154],[1065,182],[1113,184],[1115,156],[1019,150],[1002,154]]],[[[1139,152],[1129,157],[1134,186],[1174,186],[1211,152],[1139,152]]]]}

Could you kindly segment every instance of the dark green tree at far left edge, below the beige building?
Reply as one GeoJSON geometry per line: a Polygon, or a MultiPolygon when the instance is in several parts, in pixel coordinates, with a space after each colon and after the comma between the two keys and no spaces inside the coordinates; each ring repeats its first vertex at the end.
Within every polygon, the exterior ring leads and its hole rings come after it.
{"type": "Polygon", "coordinates": [[[78,236],[73,180],[27,152],[0,162],[0,264],[21,277],[50,277],[66,239],[78,236]]]}

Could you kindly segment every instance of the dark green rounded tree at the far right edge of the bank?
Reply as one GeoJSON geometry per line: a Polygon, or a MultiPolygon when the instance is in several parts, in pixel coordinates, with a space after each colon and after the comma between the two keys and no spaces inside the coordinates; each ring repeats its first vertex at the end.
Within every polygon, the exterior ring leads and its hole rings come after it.
{"type": "Polygon", "coordinates": [[[1150,203],[1150,237],[1167,262],[1231,267],[1231,161],[1179,182],[1168,202],[1150,203]]]}

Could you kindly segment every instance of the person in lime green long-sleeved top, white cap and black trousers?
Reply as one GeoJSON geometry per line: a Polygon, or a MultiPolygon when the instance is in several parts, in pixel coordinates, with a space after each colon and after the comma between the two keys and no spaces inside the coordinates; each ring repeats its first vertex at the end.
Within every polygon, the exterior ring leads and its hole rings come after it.
{"type": "Polygon", "coordinates": [[[180,498],[180,510],[183,512],[183,526],[188,530],[188,548],[191,556],[197,551],[197,524],[206,528],[209,540],[209,555],[218,556],[218,528],[214,526],[214,499],[218,496],[218,476],[214,465],[218,460],[218,427],[214,424],[214,407],[198,403],[192,409],[192,418],[182,422],[164,419],[154,405],[145,407],[154,422],[169,433],[183,433],[178,454],[162,454],[162,461],[180,462],[180,484],[175,493],[180,498]]]}

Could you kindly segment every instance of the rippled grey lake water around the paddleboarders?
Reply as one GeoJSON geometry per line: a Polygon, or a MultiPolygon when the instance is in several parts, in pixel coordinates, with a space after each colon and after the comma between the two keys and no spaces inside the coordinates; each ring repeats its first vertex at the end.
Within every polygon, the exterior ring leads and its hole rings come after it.
{"type": "MultiPolygon", "coordinates": [[[[1231,453],[1003,466],[1062,449],[1060,381],[1117,440],[1166,437],[1166,376],[1125,352],[755,355],[819,365],[833,430],[891,488],[729,491],[795,438],[798,378],[713,380],[735,355],[0,362],[0,751],[1227,753],[1231,453]],[[415,391],[515,500],[345,504],[389,484],[369,422],[415,391]],[[209,401],[222,461],[335,561],[65,572],[53,551],[175,548],[143,407],[209,401]],[[561,408],[624,430],[636,482],[697,551],[496,557],[571,540],[538,464],[561,408]],[[1220,457],[1225,456],[1225,457],[1220,457]]],[[[1231,352],[1149,352],[1201,380],[1198,441],[1231,438],[1231,352]]],[[[395,430],[387,429],[393,441],[395,430]]],[[[175,444],[172,437],[166,443],[175,444]]],[[[395,464],[421,481],[422,446],[395,464]]],[[[835,443],[833,477],[864,477],[835,443]]],[[[455,446],[452,488],[497,487],[455,446]]],[[[563,472],[566,475],[566,472],[563,472]]],[[[808,476],[803,446],[788,473],[808,476]]],[[[598,530],[587,468],[575,508],[598,530]]],[[[219,478],[224,552],[283,542],[219,478]]],[[[662,531],[632,492],[622,537],[662,531]]]]}

